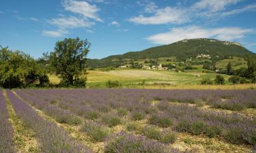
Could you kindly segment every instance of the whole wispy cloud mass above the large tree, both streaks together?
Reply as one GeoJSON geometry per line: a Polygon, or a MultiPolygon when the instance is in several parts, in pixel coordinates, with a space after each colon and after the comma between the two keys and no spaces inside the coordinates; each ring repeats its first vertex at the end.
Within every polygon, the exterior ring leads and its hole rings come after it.
{"type": "MultiPolygon", "coordinates": [[[[101,1],[98,0],[97,2],[101,1]]],[[[103,20],[97,15],[100,9],[96,5],[90,5],[86,1],[75,0],[65,0],[63,1],[62,5],[64,10],[72,13],[72,15],[65,16],[61,14],[57,18],[47,20],[47,23],[57,27],[57,30],[44,30],[42,31],[42,35],[61,37],[68,34],[70,29],[90,28],[96,24],[94,21],[103,22],[103,20]]],[[[89,29],[86,31],[87,33],[93,32],[89,29]]]]}

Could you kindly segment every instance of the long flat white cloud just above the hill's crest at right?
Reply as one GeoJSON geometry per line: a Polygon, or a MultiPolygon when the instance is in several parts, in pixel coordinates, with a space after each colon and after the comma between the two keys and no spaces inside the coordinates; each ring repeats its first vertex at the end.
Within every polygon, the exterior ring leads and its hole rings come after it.
{"type": "Polygon", "coordinates": [[[167,33],[159,33],[147,37],[147,40],[154,44],[171,44],[182,39],[193,38],[216,38],[221,40],[233,40],[244,37],[246,33],[252,32],[252,29],[242,29],[240,27],[225,27],[215,29],[203,29],[201,27],[181,27],[173,28],[167,33]]]}

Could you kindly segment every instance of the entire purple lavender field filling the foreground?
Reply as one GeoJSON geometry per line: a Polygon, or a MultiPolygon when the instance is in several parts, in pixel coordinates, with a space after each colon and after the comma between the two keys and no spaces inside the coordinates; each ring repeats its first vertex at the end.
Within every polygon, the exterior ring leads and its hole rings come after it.
{"type": "Polygon", "coordinates": [[[255,90],[16,89],[1,92],[0,152],[18,152],[10,103],[35,134],[27,152],[253,152],[255,90]],[[250,113],[248,113],[250,112],[250,113]]]}

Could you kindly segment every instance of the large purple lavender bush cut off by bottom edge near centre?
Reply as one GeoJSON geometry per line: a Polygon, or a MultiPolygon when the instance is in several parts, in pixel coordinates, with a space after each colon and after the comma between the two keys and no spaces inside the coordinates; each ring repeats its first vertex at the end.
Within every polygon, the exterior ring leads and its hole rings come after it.
{"type": "Polygon", "coordinates": [[[104,153],[167,153],[177,152],[177,150],[168,150],[167,148],[157,141],[145,139],[141,136],[127,135],[121,133],[112,141],[107,143],[104,148],[104,153]]]}

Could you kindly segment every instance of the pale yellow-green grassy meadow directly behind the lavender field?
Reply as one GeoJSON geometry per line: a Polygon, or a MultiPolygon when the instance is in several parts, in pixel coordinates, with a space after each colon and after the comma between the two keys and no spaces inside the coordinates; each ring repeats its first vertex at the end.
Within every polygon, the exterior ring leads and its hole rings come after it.
{"type": "MultiPolygon", "coordinates": [[[[87,71],[87,88],[104,88],[108,80],[118,81],[122,88],[165,88],[165,89],[249,89],[255,84],[229,84],[229,75],[223,75],[225,85],[201,85],[203,78],[214,80],[216,73],[175,72],[166,70],[115,69],[110,71],[87,71]],[[144,82],[144,83],[143,83],[144,82]]],[[[53,84],[60,79],[49,75],[53,84]]]]}

